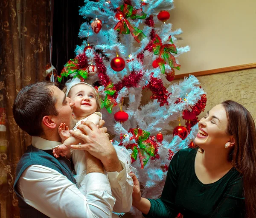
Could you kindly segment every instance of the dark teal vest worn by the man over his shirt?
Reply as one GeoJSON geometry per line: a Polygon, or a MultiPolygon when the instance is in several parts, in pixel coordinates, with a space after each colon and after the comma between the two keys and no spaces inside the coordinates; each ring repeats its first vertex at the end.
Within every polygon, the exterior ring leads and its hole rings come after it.
{"type": "MultiPolygon", "coordinates": [[[[14,182],[14,191],[17,195],[19,207],[20,207],[20,218],[47,218],[48,216],[44,215],[40,211],[36,210],[34,207],[29,206],[23,201],[23,198],[18,193],[17,181],[20,178],[21,174],[26,170],[27,167],[31,165],[43,165],[49,167],[53,170],[57,170],[59,173],[67,176],[67,178],[76,183],[76,180],[72,174],[73,167],[71,162],[65,157],[60,157],[56,159],[52,155],[52,150],[40,150],[36,147],[30,145],[26,152],[21,156],[20,161],[17,164],[16,168],[16,178],[14,182]]],[[[36,193],[36,192],[35,192],[36,193]]],[[[40,198],[40,196],[38,196],[40,198]]]]}

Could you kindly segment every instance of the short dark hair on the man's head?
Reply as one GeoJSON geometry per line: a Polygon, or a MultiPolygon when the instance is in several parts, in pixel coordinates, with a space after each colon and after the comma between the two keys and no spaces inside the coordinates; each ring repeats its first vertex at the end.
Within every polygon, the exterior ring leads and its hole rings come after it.
{"type": "Polygon", "coordinates": [[[42,136],[42,119],[47,115],[58,115],[53,97],[52,82],[36,82],[27,85],[17,94],[12,113],[17,125],[30,136],[42,136]]]}

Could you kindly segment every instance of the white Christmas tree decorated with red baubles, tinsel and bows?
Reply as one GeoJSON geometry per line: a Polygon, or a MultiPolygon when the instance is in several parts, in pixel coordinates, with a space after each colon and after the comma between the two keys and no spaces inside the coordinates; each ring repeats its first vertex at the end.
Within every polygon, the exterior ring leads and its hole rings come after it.
{"type": "Polygon", "coordinates": [[[191,117],[195,124],[205,103],[195,76],[170,82],[174,69],[180,68],[176,58],[189,51],[189,46],[175,46],[181,29],[173,31],[172,24],[165,23],[173,7],[172,0],[84,0],[80,14],[86,22],[79,37],[85,40],[58,78],[100,81],[103,119],[114,136],[113,144],[131,149],[132,166],[146,198],[160,196],[172,154],[187,148],[197,133],[194,125],[187,136],[184,128],[173,136],[168,134],[173,129],[169,123],[184,110],[191,115],[199,103],[191,117]],[[143,89],[152,96],[141,105],[143,89]],[[116,120],[128,120],[116,121],[114,115],[116,120]]]}

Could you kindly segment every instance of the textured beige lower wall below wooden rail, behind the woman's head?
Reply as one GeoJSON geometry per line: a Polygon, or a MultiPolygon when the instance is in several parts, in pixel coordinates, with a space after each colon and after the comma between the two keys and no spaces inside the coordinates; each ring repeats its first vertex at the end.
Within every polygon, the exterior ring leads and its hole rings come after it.
{"type": "MultiPolygon", "coordinates": [[[[198,76],[197,78],[207,96],[205,111],[200,114],[199,119],[215,105],[225,100],[233,100],[244,105],[256,122],[256,68],[198,76]]],[[[182,120],[181,124],[184,125],[184,123],[182,120]]],[[[175,122],[174,125],[178,125],[178,122],[175,122]]]]}

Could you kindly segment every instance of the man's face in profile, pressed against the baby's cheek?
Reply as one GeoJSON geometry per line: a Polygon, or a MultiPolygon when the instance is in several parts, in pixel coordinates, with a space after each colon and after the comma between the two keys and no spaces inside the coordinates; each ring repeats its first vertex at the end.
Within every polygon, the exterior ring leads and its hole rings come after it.
{"type": "Polygon", "coordinates": [[[72,114],[75,102],[66,97],[65,93],[56,86],[54,86],[53,97],[56,99],[55,108],[58,111],[58,116],[53,117],[56,127],[58,128],[61,123],[66,123],[66,126],[72,130],[76,125],[76,119],[72,114]]]}

